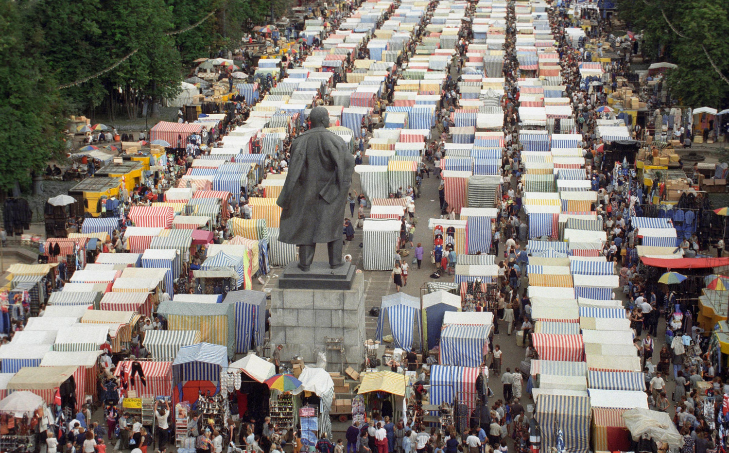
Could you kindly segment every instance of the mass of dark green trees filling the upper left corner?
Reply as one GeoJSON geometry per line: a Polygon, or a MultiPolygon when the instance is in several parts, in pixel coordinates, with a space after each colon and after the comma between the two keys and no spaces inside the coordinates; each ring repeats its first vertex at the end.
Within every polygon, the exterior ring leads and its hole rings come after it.
{"type": "Polygon", "coordinates": [[[0,190],[64,150],[66,116],[135,119],[175,96],[185,67],[291,0],[0,0],[0,190]]]}

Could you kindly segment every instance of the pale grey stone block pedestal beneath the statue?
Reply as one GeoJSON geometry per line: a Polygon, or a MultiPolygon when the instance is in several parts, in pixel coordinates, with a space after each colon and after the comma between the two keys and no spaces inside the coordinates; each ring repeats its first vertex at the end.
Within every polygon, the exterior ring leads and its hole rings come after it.
{"type": "Polygon", "coordinates": [[[316,363],[327,355],[327,371],[340,371],[340,353],[327,351],[324,338],[344,338],[344,368],[364,361],[364,276],[355,274],[349,290],[288,289],[271,291],[271,347],[283,344],[281,361],[300,356],[316,363]]]}

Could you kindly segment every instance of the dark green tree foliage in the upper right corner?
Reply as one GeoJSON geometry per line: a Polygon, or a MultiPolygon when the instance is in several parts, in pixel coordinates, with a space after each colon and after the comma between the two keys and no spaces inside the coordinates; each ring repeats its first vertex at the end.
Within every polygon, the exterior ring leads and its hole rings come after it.
{"type": "Polygon", "coordinates": [[[679,66],[668,72],[667,80],[681,104],[722,107],[729,102],[729,83],[717,74],[703,51],[706,48],[717,69],[729,77],[726,1],[619,0],[618,15],[634,31],[643,32],[647,56],[679,66]]]}

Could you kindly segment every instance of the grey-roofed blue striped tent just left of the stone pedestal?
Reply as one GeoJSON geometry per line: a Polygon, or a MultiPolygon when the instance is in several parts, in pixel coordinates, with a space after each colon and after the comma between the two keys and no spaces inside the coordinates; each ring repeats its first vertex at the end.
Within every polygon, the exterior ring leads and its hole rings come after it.
{"type": "Polygon", "coordinates": [[[254,290],[230,291],[223,303],[235,307],[235,352],[246,353],[256,346],[262,347],[266,330],[266,293],[254,290]]]}

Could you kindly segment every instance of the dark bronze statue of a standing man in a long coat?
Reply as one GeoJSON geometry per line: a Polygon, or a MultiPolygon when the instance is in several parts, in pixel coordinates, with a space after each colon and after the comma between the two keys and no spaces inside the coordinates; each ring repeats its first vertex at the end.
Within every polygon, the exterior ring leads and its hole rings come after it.
{"type": "Polygon", "coordinates": [[[327,243],[331,268],[343,266],[342,212],[354,171],[344,140],[327,131],[329,112],[316,107],[311,129],[291,145],[291,162],[276,204],[281,206],[278,240],[299,246],[299,268],[308,271],[316,244],[327,243]]]}

